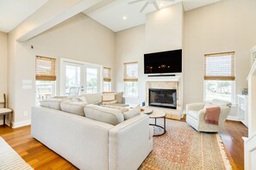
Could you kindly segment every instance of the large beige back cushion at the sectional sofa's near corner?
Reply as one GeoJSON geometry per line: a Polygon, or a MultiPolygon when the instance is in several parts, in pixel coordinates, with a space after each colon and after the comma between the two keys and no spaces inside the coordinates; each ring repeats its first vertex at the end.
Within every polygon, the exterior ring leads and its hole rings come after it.
{"type": "Polygon", "coordinates": [[[122,112],[120,110],[103,106],[85,106],[84,113],[86,118],[91,118],[100,122],[105,122],[113,125],[119,124],[124,120],[122,112]]]}

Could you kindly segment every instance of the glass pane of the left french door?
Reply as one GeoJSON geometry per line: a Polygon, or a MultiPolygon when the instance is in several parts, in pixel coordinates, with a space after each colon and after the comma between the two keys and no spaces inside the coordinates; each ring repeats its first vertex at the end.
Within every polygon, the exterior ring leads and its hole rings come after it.
{"type": "Polygon", "coordinates": [[[65,95],[75,96],[83,93],[83,65],[65,62],[65,95]]]}

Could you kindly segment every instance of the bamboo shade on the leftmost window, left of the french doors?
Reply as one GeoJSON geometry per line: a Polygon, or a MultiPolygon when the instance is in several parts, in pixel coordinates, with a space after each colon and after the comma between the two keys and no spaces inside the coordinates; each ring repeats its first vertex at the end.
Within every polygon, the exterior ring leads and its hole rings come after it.
{"type": "Polygon", "coordinates": [[[35,80],[55,81],[55,58],[36,56],[35,58],[35,80]]]}

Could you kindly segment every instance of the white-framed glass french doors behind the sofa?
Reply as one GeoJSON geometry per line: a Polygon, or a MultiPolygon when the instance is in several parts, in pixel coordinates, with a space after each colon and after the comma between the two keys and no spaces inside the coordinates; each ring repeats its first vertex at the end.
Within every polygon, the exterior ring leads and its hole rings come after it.
{"type": "Polygon", "coordinates": [[[102,66],[79,61],[61,61],[60,94],[96,94],[101,91],[102,66]]]}

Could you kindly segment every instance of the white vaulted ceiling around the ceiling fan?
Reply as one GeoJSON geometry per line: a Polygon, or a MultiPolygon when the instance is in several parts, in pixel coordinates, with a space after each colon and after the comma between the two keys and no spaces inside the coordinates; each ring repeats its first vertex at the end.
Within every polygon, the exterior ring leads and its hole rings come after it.
{"type": "MultiPolygon", "coordinates": [[[[139,3],[128,4],[134,0],[116,0],[101,8],[91,10],[85,10],[84,14],[89,15],[95,21],[100,22],[105,27],[109,27],[114,32],[127,29],[129,27],[139,26],[146,21],[146,14],[155,11],[152,4],[149,4],[147,8],[140,13],[140,9],[143,7],[146,1],[139,3]],[[127,19],[123,20],[123,16],[127,19]]],[[[167,2],[164,0],[157,0],[158,4],[163,4],[160,9],[170,6],[175,3],[183,2],[184,10],[188,11],[196,9],[210,3],[216,3],[221,0],[176,0],[175,2],[167,2]]]]}

